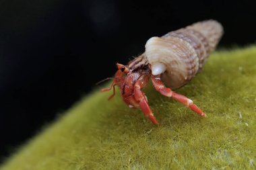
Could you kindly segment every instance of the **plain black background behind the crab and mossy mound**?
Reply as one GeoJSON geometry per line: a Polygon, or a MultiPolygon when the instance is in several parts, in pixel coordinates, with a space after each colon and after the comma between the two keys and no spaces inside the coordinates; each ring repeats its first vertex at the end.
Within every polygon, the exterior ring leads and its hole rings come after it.
{"type": "MultiPolygon", "coordinates": [[[[252,1],[253,2],[253,1],[252,1]]],[[[111,77],[146,41],[203,19],[220,46],[255,43],[249,1],[0,1],[0,160],[111,77]]]]}

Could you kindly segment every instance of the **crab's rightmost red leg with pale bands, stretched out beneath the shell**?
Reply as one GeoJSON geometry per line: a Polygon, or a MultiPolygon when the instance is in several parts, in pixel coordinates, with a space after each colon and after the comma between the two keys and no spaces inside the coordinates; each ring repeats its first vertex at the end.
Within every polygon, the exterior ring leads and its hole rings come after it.
{"type": "Polygon", "coordinates": [[[197,105],[195,105],[193,103],[193,101],[189,98],[187,98],[184,95],[180,95],[178,93],[175,93],[174,91],[172,91],[170,88],[167,88],[164,86],[164,83],[162,83],[160,76],[151,76],[151,80],[152,83],[154,85],[154,87],[156,88],[156,90],[161,93],[162,95],[165,95],[167,97],[172,97],[173,99],[183,103],[184,105],[186,105],[188,108],[190,108],[191,110],[193,110],[193,112],[199,114],[200,116],[203,116],[206,118],[206,114],[203,113],[202,110],[200,110],[197,105]]]}

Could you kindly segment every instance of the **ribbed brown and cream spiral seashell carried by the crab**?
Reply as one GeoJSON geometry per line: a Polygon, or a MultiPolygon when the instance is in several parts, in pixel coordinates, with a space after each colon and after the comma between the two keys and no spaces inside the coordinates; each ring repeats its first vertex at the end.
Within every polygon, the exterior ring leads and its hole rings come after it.
{"type": "Polygon", "coordinates": [[[172,89],[185,85],[203,67],[222,34],[220,23],[207,20],[150,38],[144,55],[151,65],[152,75],[161,74],[162,81],[172,89]]]}

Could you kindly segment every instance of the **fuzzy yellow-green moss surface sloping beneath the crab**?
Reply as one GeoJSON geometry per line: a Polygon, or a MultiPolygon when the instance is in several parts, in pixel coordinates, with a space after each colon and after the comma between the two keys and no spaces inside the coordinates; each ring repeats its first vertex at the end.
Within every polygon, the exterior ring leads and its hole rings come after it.
{"type": "MultiPolygon", "coordinates": [[[[255,169],[256,47],[212,54],[178,93],[208,118],[145,89],[160,124],[98,89],[0,169],[255,169]]],[[[35,113],[36,114],[36,113],[35,113]]]]}

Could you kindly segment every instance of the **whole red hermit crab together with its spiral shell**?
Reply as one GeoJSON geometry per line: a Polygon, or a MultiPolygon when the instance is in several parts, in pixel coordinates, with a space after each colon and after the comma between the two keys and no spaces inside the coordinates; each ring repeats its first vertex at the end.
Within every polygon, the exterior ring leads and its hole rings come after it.
{"type": "Polygon", "coordinates": [[[123,101],[130,108],[140,108],[158,125],[146,95],[141,91],[151,79],[156,91],[183,103],[193,112],[206,117],[193,101],[172,91],[187,84],[201,70],[210,52],[223,34],[222,25],[215,20],[197,22],[186,28],[169,32],[162,37],[152,37],[146,42],[146,50],[127,65],[117,63],[117,73],[110,87],[101,91],[121,90],[123,101]]]}

